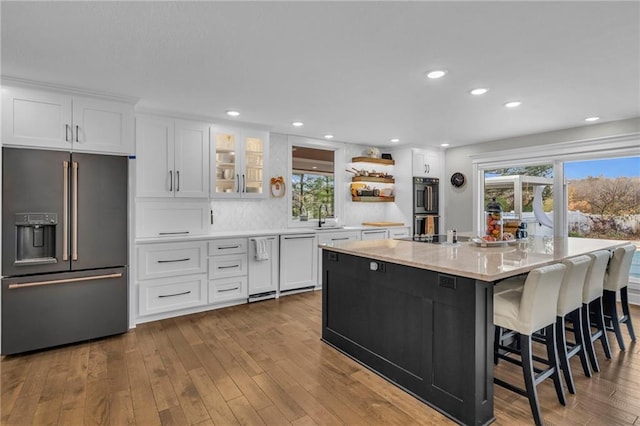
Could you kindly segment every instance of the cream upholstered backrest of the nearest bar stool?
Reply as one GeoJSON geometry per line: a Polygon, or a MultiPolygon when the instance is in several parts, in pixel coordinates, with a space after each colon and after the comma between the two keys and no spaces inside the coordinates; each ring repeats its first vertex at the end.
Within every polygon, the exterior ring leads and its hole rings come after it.
{"type": "Polygon", "coordinates": [[[527,275],[520,299],[520,321],[534,332],[556,321],[559,283],[567,267],[561,263],[533,269],[527,275]]]}

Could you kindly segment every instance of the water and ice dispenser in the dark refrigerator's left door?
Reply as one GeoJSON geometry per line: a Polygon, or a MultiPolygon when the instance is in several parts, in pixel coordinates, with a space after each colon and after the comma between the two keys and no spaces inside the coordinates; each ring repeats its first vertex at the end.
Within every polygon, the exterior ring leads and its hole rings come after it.
{"type": "Polygon", "coordinates": [[[14,265],[57,263],[56,213],[18,213],[16,224],[16,260],[14,265]]]}

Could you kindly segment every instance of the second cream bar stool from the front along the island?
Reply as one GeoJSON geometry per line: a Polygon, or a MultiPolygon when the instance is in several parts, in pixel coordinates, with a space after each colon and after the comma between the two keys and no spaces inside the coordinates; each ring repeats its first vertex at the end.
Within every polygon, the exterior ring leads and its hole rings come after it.
{"type": "Polygon", "coordinates": [[[576,256],[562,261],[567,267],[567,271],[562,278],[560,294],[558,295],[558,309],[556,318],[556,339],[560,366],[567,382],[569,393],[576,393],[576,386],[571,373],[569,360],[574,355],[580,356],[582,369],[587,377],[591,377],[589,362],[585,350],[584,335],[582,334],[582,292],[587,278],[589,266],[592,260],[589,256],[576,256]],[[575,343],[568,344],[565,335],[565,322],[570,320],[573,323],[573,335],[575,343]]]}

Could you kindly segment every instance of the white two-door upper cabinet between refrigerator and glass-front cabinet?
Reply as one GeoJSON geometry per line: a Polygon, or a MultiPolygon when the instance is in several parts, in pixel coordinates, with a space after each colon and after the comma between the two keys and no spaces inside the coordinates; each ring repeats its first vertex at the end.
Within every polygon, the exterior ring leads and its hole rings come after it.
{"type": "Polygon", "coordinates": [[[209,125],[136,118],[138,197],[209,197],[209,125]]]}

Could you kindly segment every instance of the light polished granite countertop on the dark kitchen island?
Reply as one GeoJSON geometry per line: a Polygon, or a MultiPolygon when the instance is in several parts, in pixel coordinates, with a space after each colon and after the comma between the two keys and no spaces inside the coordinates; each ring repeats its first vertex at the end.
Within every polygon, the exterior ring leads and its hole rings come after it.
{"type": "Polygon", "coordinates": [[[471,242],[446,245],[401,240],[335,242],[321,247],[338,253],[490,282],[526,273],[568,257],[626,243],[628,241],[531,237],[500,247],[478,247],[471,242]]]}

